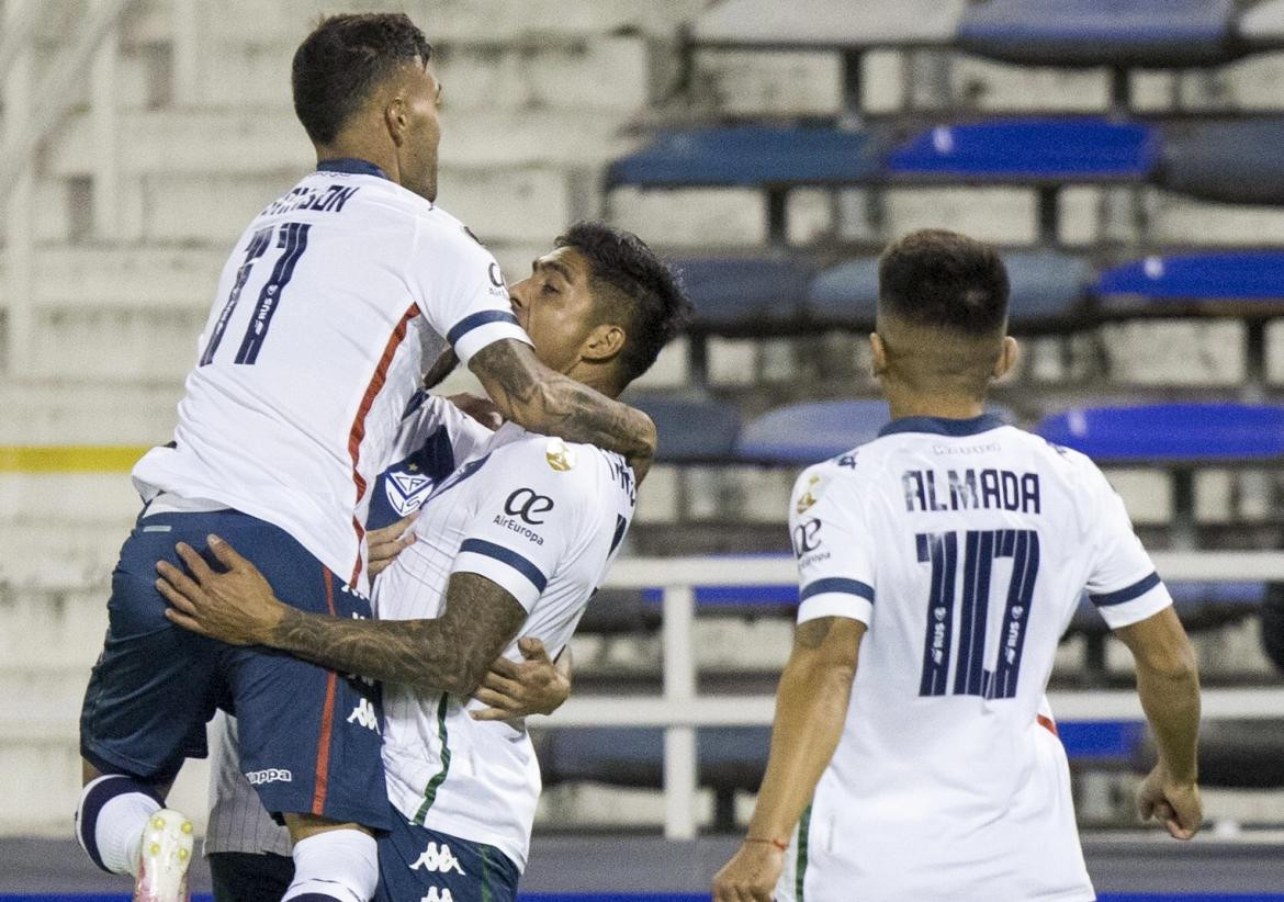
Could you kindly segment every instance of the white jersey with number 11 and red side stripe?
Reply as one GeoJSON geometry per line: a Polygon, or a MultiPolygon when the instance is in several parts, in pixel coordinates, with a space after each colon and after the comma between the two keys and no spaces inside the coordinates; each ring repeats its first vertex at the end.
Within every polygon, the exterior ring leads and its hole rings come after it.
{"type": "Polygon", "coordinates": [[[447,344],[528,341],[494,258],[452,216],[361,160],[268,204],[223,267],[175,448],[134,468],[160,491],[280,526],[365,585],[370,486],[447,344]]]}

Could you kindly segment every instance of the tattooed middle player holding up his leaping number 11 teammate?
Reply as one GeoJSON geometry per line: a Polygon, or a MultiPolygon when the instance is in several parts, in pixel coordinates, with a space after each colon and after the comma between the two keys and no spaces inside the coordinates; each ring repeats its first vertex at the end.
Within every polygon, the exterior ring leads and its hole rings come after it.
{"type": "MultiPolygon", "coordinates": [[[[559,239],[512,286],[512,303],[544,363],[612,396],[688,316],[646,245],[600,225],[559,239]]],[[[435,416],[426,404],[411,416],[435,416]]],[[[497,654],[521,659],[516,636],[552,653],[565,647],[620,547],[636,491],[620,455],[507,423],[424,500],[415,543],[375,585],[379,620],[277,600],[214,538],[226,572],[180,545],[194,579],[162,562],[158,586],[175,606],[169,618],[207,636],[384,680],[392,815],[379,839],[379,897],[505,902],[525,866],[539,770],[524,722],[480,713],[494,701],[487,692],[469,697],[497,654]]],[[[372,712],[354,720],[376,734],[372,712]]]]}

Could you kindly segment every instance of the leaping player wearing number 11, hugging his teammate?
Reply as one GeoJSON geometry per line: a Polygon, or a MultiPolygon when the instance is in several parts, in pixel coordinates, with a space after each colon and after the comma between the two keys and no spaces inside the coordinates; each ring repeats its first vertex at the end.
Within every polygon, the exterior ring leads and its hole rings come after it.
{"type": "MultiPolygon", "coordinates": [[[[294,837],[294,897],[366,898],[388,822],[379,739],[336,716],[377,698],[286,656],[173,629],[153,565],[218,532],[282,597],[370,613],[365,513],[399,414],[449,345],[514,422],[645,466],[642,413],[539,363],[494,258],[434,203],[440,86],[404,15],[324,21],[293,63],[317,171],[238,241],[178,405],[172,447],[134,470],[144,495],[113,574],[109,631],[81,713],[77,837],[140,898],[181,894],[190,824],[162,801],[234,708],[245,767],[294,837]],[[144,837],[144,829],[146,835],[144,837]]],[[[199,210],[194,210],[199,216],[199,210]]]]}

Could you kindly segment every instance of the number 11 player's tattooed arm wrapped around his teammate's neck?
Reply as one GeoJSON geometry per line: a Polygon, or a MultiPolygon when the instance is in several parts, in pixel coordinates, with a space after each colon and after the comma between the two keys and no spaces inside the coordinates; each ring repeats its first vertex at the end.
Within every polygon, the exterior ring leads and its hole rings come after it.
{"type": "Polygon", "coordinates": [[[650,466],[656,444],[651,418],[550,370],[529,345],[502,339],[479,350],[469,368],[505,418],[533,432],[619,452],[639,479],[650,466]]]}

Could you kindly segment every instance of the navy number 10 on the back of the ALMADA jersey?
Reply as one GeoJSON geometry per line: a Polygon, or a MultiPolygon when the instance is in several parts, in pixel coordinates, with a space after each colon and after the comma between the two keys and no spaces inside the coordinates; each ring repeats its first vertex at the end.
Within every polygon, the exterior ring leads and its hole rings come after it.
{"type": "Polygon", "coordinates": [[[954,624],[954,591],[959,567],[958,532],[921,532],[918,559],[932,567],[923,644],[919,695],[948,693],[950,656],[954,695],[1014,698],[1021,649],[1030,622],[1030,599],[1039,574],[1039,534],[1034,530],[969,530],[963,534],[963,598],[954,624]],[[996,558],[1012,558],[1012,580],[999,630],[999,653],[993,670],[985,667],[986,621],[990,615],[990,576],[996,558]],[[955,631],[958,642],[955,643],[955,631]],[[957,649],[957,651],[955,651],[957,649]]]}

